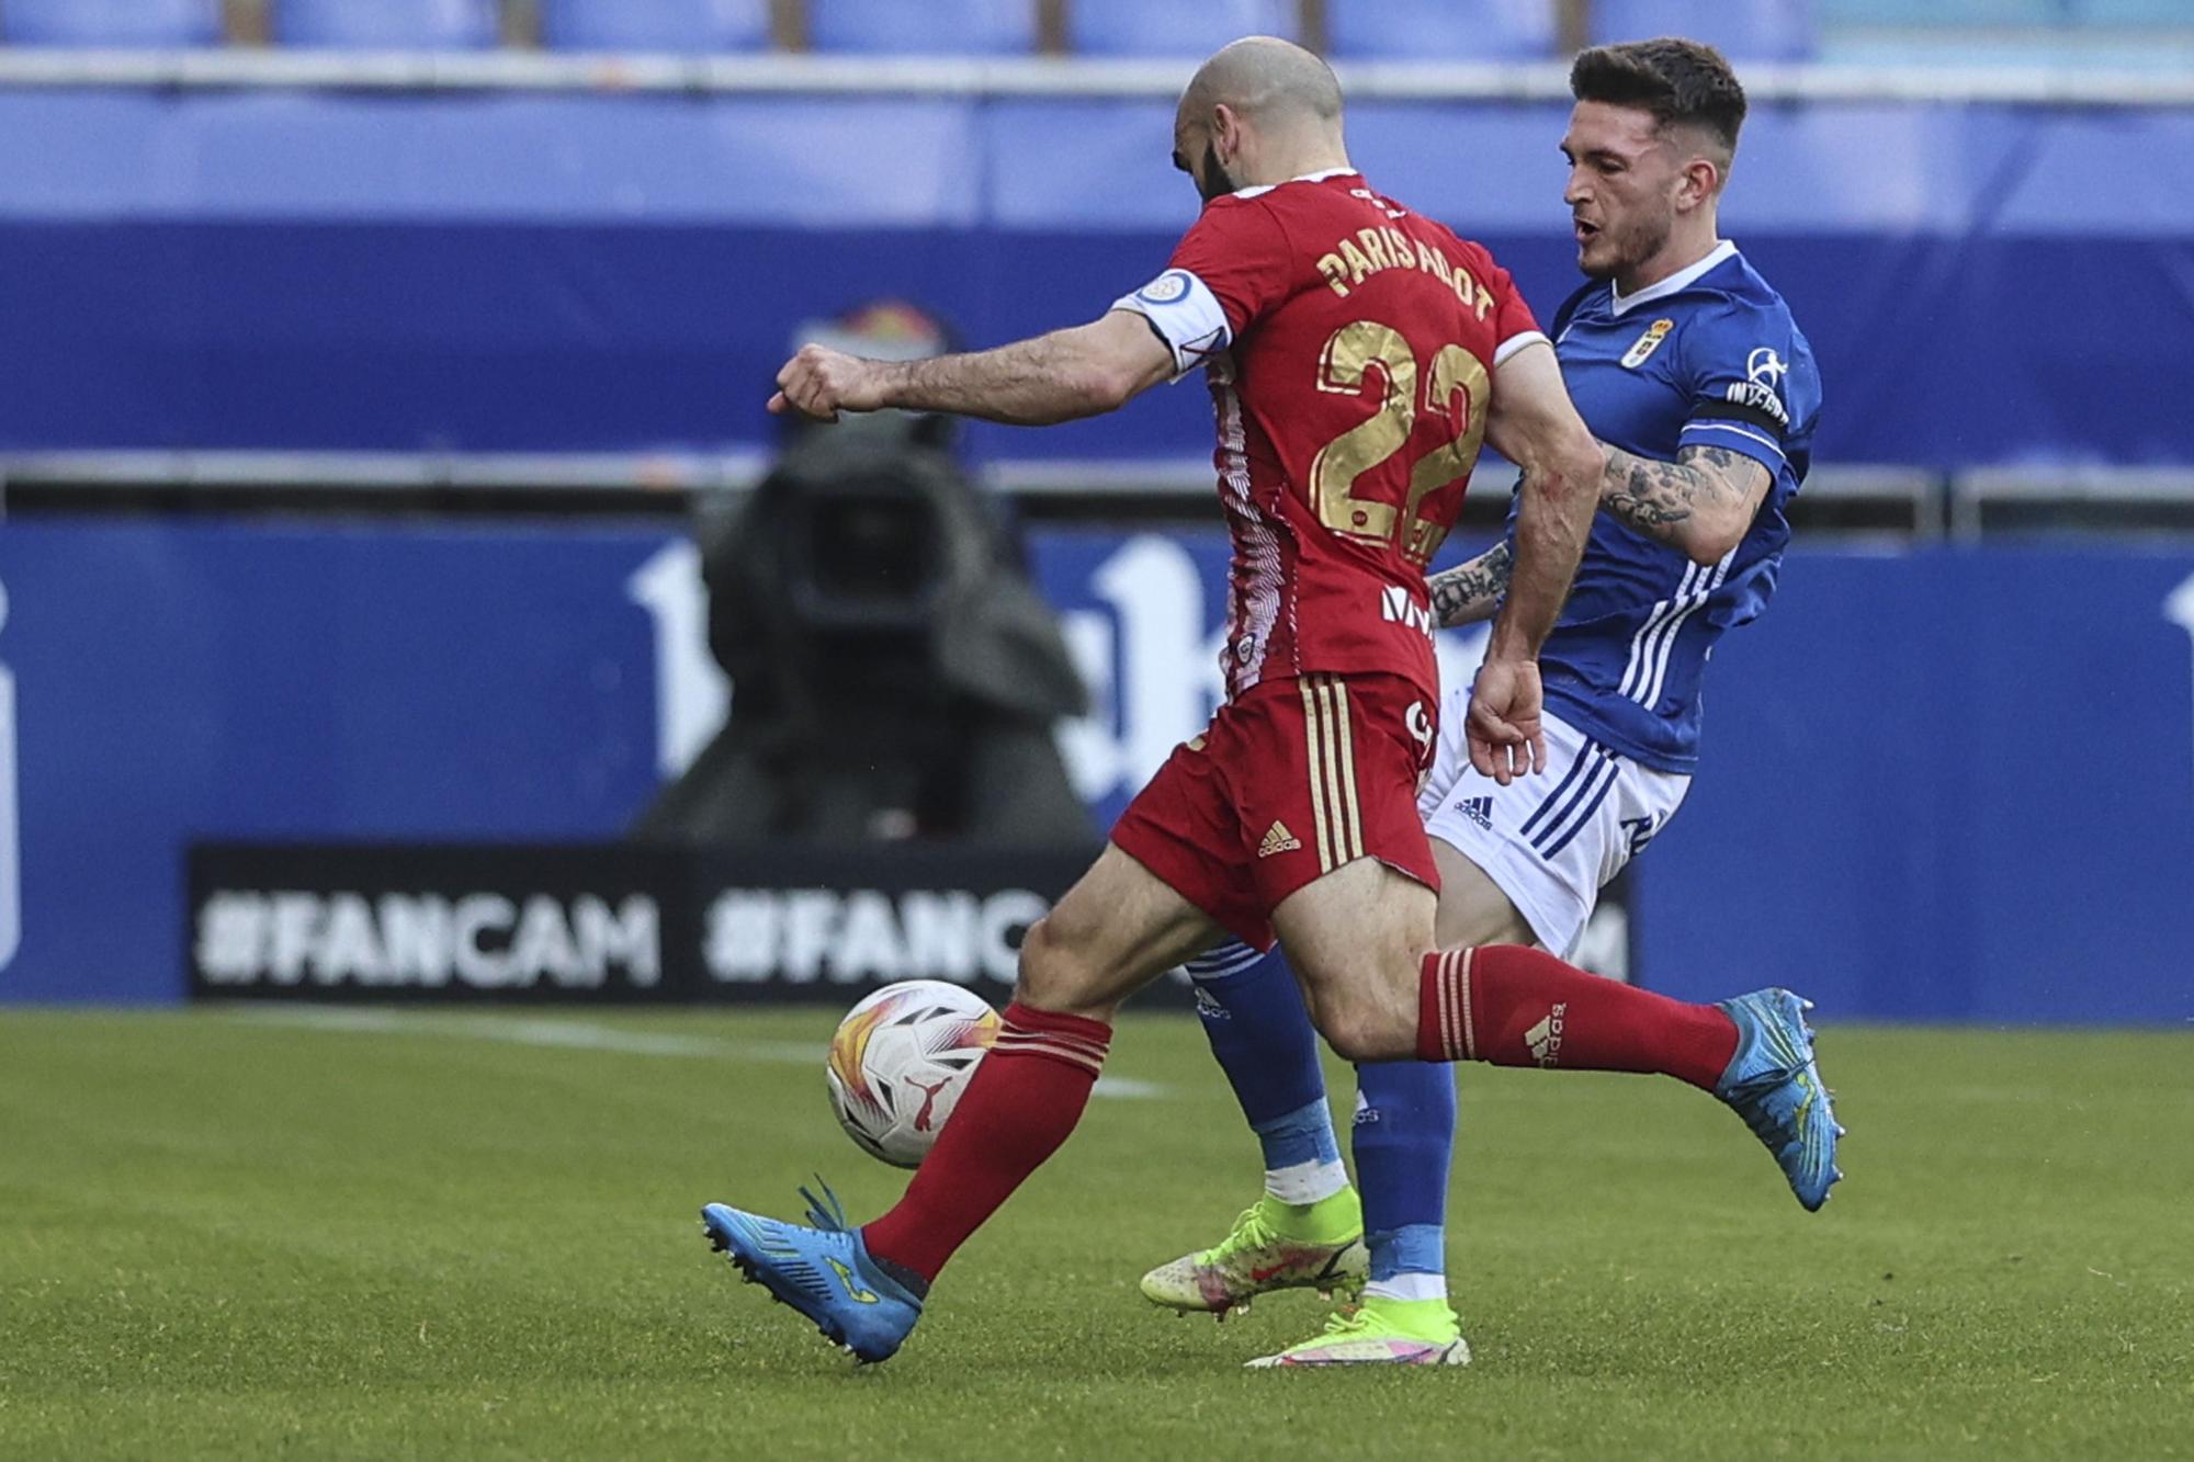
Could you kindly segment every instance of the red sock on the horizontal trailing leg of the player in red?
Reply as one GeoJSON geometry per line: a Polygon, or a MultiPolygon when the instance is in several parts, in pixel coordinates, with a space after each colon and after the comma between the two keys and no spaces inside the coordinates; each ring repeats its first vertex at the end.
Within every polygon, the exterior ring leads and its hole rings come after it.
{"type": "Polygon", "coordinates": [[[1540,948],[1485,944],[1424,957],[1424,1060],[1659,1071],[1714,1091],[1735,1054],[1738,1025],[1714,1005],[1586,975],[1540,948]]]}

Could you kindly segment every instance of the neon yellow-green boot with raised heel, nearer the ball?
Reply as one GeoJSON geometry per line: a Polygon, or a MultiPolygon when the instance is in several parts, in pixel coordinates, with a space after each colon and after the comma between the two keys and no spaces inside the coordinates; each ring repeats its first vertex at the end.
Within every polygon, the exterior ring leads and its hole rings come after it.
{"type": "Polygon", "coordinates": [[[1266,1194],[1242,1210],[1211,1249],[1158,1264],[1143,1275],[1143,1297],[1183,1315],[1226,1319],[1253,1295],[1314,1289],[1354,1295],[1371,1273],[1365,1214],[1354,1188],[1301,1207],[1266,1194]]]}

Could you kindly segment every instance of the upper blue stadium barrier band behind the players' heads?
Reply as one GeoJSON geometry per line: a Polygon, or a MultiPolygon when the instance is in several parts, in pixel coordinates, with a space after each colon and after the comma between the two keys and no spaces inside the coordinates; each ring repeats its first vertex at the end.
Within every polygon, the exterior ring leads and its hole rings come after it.
{"type": "MultiPolygon", "coordinates": [[[[1564,116],[1371,94],[1352,147],[1551,314],[1575,283],[1564,116]]],[[[992,342],[1147,279],[1196,209],[1169,123],[1141,90],[0,88],[0,472],[764,452],[766,384],[816,314],[897,294],[992,342]]],[[[2157,367],[2194,331],[2194,105],[1760,105],[1724,226],[1812,336],[1819,461],[2194,461],[2157,367]]],[[[1209,404],[970,448],[1178,463],[1209,452],[1209,404]]]]}

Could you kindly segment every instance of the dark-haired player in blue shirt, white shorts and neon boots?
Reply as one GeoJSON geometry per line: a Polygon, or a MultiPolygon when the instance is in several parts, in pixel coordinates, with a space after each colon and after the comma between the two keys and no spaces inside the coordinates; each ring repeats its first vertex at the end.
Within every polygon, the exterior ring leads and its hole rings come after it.
{"type": "MultiPolygon", "coordinates": [[[[1698,764],[1707,659],[1775,593],[1790,538],[1784,509],[1806,476],[1821,404],[1806,336],[1718,233],[1744,121],[1744,90],[1720,53],[1687,40],[1599,46],[1577,57],[1571,92],[1564,202],[1591,283],[1560,307],[1551,334],[1608,468],[1575,588],[1540,652],[1545,775],[1496,781],[1474,771],[1461,735],[1468,687],[1446,691],[1420,799],[1441,874],[1444,948],[1538,944],[1569,955],[1599,887],[1674,817],[1698,764]]],[[[1509,562],[1503,540],[1435,575],[1441,626],[1490,619],[1509,562]]],[[[1358,1311],[1253,1363],[1468,1361],[1444,1260],[1450,1067],[1358,1067],[1358,1199],[1279,951],[1222,946],[1189,972],[1213,1054],[1264,1146],[1266,1194],[1220,1245],[1150,1271],[1143,1293],[1224,1317],[1264,1291],[1365,1282],[1358,1311]]],[[[1584,999],[1569,994],[1567,1005],[1584,999]]],[[[1505,1045],[1494,1032],[1463,1032],[1463,1045],[1496,1065],[1569,1065],[1564,1041],[1577,1045],[1580,1014],[1556,1003],[1529,1030],[1503,1032],[1505,1045]]],[[[1740,1047],[1714,1093],[1768,1137],[1738,1080],[1744,1058],[1740,1047]]],[[[1841,1128],[1825,1093],[1817,1117],[1817,1142],[1832,1155],[1841,1128]]],[[[1795,1148],[1775,1155],[1814,1210],[1841,1174],[1795,1148]]]]}

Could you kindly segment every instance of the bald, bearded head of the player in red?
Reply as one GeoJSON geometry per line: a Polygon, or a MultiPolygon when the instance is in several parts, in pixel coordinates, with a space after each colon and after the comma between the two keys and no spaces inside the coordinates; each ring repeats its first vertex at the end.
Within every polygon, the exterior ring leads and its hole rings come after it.
{"type": "Polygon", "coordinates": [[[1194,176],[1205,198],[1347,162],[1341,81],[1301,46],[1270,35],[1237,40],[1180,92],[1174,167],[1194,176]]]}

